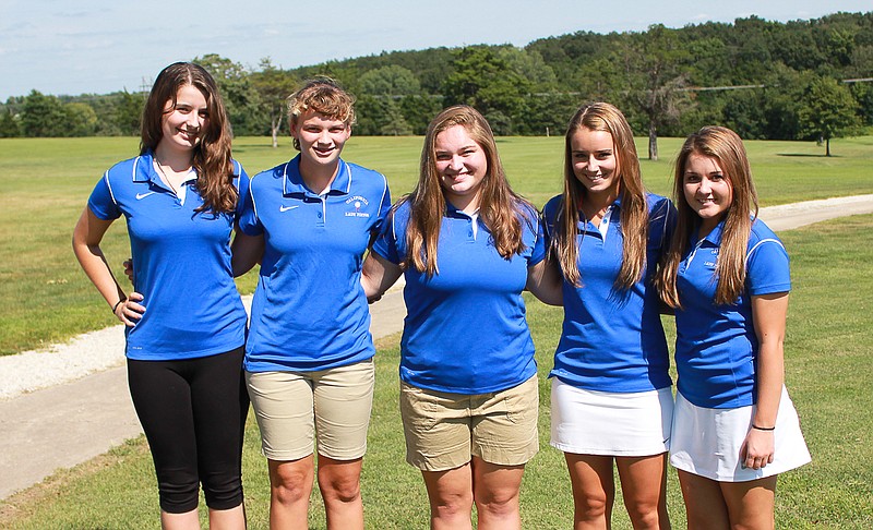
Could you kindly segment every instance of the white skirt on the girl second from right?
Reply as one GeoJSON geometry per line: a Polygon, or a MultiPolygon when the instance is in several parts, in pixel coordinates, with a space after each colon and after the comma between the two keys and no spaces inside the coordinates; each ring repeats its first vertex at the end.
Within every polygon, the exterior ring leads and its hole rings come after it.
{"type": "Polygon", "coordinates": [[[552,378],[551,445],[564,453],[653,456],[670,448],[670,387],[639,393],[586,390],[552,378]]]}

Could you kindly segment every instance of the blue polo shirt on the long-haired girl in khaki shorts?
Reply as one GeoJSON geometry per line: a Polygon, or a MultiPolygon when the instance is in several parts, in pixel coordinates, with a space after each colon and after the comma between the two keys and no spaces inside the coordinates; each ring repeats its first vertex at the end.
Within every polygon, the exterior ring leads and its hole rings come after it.
{"type": "MultiPolygon", "coordinates": [[[[541,262],[546,251],[536,210],[521,207],[526,248],[505,260],[481,219],[449,205],[440,227],[439,273],[428,278],[411,266],[404,273],[404,382],[470,395],[512,388],[537,373],[522,291],[528,267],[541,262]]],[[[404,202],[373,252],[395,264],[406,260],[409,213],[404,202]]]]}

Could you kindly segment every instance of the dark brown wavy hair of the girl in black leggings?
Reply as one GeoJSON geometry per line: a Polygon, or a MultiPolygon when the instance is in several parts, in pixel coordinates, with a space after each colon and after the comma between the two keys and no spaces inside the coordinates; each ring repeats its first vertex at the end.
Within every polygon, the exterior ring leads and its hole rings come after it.
{"type": "Polygon", "coordinates": [[[230,213],[237,207],[239,193],[234,185],[234,162],[230,159],[230,127],[218,86],[200,64],[175,62],[160,71],[143,109],[140,154],[157,148],[164,136],[164,115],[176,108],[179,88],[191,85],[203,93],[208,111],[207,125],[194,146],[191,165],[196,169],[196,189],[203,197],[198,212],[230,213]],[[167,110],[167,101],[170,101],[167,110]]]}

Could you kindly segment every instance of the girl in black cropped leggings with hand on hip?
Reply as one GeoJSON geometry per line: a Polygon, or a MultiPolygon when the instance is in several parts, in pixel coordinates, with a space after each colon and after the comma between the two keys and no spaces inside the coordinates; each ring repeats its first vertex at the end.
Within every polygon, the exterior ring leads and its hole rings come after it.
{"type": "Polygon", "coordinates": [[[127,326],[130,392],[155,463],[162,526],[199,527],[202,484],[211,526],[244,528],[246,311],[229,243],[248,177],[230,158],[225,109],[206,70],[178,62],[158,74],[140,150],[97,183],[73,250],[127,326]],[[135,272],[130,294],[100,249],[122,215],[135,272]]]}

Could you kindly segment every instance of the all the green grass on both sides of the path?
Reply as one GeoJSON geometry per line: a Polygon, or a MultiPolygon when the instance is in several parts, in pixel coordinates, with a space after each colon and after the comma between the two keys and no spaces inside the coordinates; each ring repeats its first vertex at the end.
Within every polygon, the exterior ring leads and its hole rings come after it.
{"type": "MultiPolygon", "coordinates": [[[[666,160],[643,162],[649,188],[666,193],[672,155],[680,142],[665,138],[666,160]]],[[[749,142],[763,205],[873,193],[873,137],[834,143],[838,155],[797,142],[749,142]]],[[[352,138],[346,158],[383,171],[395,197],[415,182],[421,138],[352,138]]],[[[499,146],[514,186],[541,205],[561,188],[561,138],[501,138],[499,146]]],[[[638,148],[642,148],[642,141],[638,148]]],[[[0,140],[0,351],[63,340],[113,323],[70,250],[70,236],[94,182],[115,161],[135,153],[132,138],[0,140]]],[[[291,156],[268,138],[240,138],[236,156],[250,172],[291,156]]],[[[873,528],[873,216],[784,232],[792,256],[793,290],[786,342],[787,383],[800,412],[813,462],[786,473],[777,496],[778,528],[873,528]],[[864,244],[864,243],[868,244],[864,244]]],[[[113,226],[105,250],[117,265],[128,255],[123,224],[113,226]]],[[[119,267],[120,269],[120,267],[119,267]]],[[[246,281],[249,281],[246,284],[246,281]]],[[[243,290],[250,289],[250,280],[243,290]]],[[[541,450],[528,465],[523,486],[525,528],[569,528],[570,483],[562,455],[548,447],[549,406],[545,374],[551,368],[561,312],[529,304],[540,365],[541,450]]],[[[378,345],[376,395],[364,460],[368,528],[427,528],[427,496],[418,471],[405,465],[397,411],[398,337],[378,345]]],[[[250,422],[244,483],[251,528],[266,528],[268,485],[250,422]]],[[[684,508],[674,473],[669,508],[675,528],[684,508]]],[[[324,528],[320,499],[311,528],[324,528]]],[[[619,502],[614,528],[630,528],[619,502]]],[[[2,528],[156,528],[157,495],[144,439],[131,441],[44,484],[0,503],[2,528]]]]}

